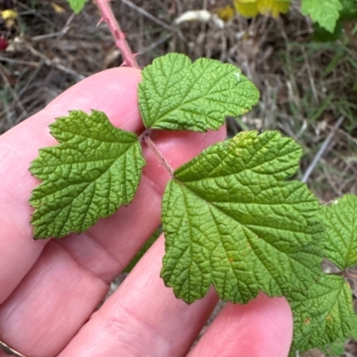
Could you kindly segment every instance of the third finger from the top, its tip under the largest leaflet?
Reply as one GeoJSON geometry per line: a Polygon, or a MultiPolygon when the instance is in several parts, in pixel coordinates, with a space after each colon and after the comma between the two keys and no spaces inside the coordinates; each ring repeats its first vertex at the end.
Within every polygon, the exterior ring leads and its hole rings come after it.
{"type": "Polygon", "coordinates": [[[59,357],[186,355],[218,297],[177,299],[160,278],[163,253],[161,237],[59,357]]]}

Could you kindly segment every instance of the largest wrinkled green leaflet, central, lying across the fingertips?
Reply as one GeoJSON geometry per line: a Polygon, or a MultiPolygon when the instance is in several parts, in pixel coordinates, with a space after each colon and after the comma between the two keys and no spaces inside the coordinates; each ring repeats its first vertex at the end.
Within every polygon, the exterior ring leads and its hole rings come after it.
{"type": "Polygon", "coordinates": [[[162,278],[192,303],[211,284],[246,303],[320,276],[318,202],[295,174],[301,148],[278,132],[242,132],[179,167],[162,202],[162,278]]]}

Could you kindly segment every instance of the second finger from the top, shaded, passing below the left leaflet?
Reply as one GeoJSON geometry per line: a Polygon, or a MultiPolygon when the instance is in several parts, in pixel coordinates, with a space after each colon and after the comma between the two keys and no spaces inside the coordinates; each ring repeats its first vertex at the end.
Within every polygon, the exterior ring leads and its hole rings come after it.
{"type": "MultiPolygon", "coordinates": [[[[118,76],[119,81],[120,78],[118,76]]],[[[111,80],[114,79],[112,73],[111,80]]],[[[92,106],[95,101],[89,97],[87,93],[87,100],[92,106]]],[[[112,103],[112,117],[119,119],[115,116],[115,110],[120,110],[117,98],[106,99],[106,112],[111,111],[108,101],[112,103]]],[[[54,110],[59,110],[58,106],[56,101],[54,110]]],[[[53,109],[49,107],[48,110],[53,109]]],[[[157,134],[156,141],[161,150],[169,153],[172,165],[177,166],[208,143],[222,138],[223,134],[157,134]]],[[[9,345],[29,355],[49,356],[60,351],[104,296],[104,282],[120,272],[157,226],[160,220],[160,196],[168,175],[162,174],[162,179],[153,181],[155,172],[159,172],[156,177],[160,178],[162,167],[146,151],[148,164],[145,177],[134,202],[112,218],[98,223],[87,234],[64,239],[60,243],[50,242],[23,284],[3,304],[0,309],[0,336],[9,345]],[[73,264],[73,258],[76,264],[73,264]],[[55,279],[36,280],[37,276],[44,275],[43,272],[55,279]],[[73,282],[79,281],[79,277],[80,284],[73,282]],[[83,300],[82,296],[88,298],[83,300]],[[31,313],[34,309],[36,316],[31,313]]]]}

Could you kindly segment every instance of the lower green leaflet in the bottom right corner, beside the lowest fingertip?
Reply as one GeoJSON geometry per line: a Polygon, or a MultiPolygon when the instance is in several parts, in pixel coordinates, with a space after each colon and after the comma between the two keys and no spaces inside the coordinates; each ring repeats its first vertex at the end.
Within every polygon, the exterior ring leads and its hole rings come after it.
{"type": "Polygon", "coordinates": [[[341,276],[325,275],[307,291],[289,298],[294,313],[292,350],[306,351],[350,335],[351,288],[341,276]]]}

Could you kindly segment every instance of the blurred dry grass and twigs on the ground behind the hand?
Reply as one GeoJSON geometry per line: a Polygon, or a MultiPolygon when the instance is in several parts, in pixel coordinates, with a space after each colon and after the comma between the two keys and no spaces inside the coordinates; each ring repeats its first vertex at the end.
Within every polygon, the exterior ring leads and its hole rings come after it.
{"type": "MultiPolygon", "coordinates": [[[[228,0],[111,4],[141,66],[165,53],[186,53],[192,60],[207,57],[237,65],[258,86],[259,104],[244,117],[228,118],[229,136],[277,129],[293,137],[304,150],[298,179],[324,145],[306,179],[311,191],[321,203],[357,193],[356,20],[341,23],[336,40],[320,42],[327,38],[313,33],[298,1],[277,18],[253,19],[239,15],[228,0]],[[191,20],[182,18],[189,11],[195,11],[191,20]]],[[[3,14],[16,12],[0,17],[0,134],[71,85],[122,62],[106,25],[97,26],[100,13],[91,1],[79,14],[65,0],[1,0],[0,5],[3,14]]],[[[339,353],[345,348],[346,357],[357,356],[352,339],[343,346],[339,353]]],[[[309,353],[305,356],[323,355],[309,353]]]]}

